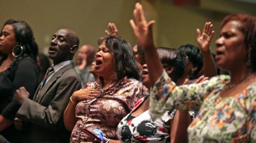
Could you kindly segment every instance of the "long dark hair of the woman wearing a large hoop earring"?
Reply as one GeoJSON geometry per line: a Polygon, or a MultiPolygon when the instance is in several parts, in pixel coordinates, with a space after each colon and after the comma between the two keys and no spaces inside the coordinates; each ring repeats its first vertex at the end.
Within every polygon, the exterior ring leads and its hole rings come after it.
{"type": "MultiPolygon", "coordinates": [[[[18,19],[9,19],[5,22],[4,26],[5,25],[12,25],[15,40],[17,44],[23,46],[23,50],[24,50],[22,55],[18,56],[12,62],[10,67],[7,69],[7,71],[10,70],[14,65],[16,65],[16,63],[18,63],[18,61],[23,59],[25,56],[31,57],[36,63],[38,47],[35,42],[35,38],[33,36],[33,31],[31,27],[25,21],[18,20],[18,19]]],[[[2,27],[0,35],[2,35],[4,26],[2,27]]],[[[0,60],[0,63],[2,63],[6,58],[7,58],[7,55],[2,53],[2,58],[0,60]]]]}

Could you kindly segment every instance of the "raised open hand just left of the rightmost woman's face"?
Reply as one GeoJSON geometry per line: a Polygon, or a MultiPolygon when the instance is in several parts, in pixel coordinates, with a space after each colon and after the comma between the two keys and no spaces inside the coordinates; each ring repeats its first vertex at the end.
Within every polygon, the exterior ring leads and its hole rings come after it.
{"type": "Polygon", "coordinates": [[[197,29],[197,42],[202,52],[209,50],[210,41],[215,33],[212,31],[212,26],[211,22],[206,22],[202,35],[200,30],[197,29]]]}

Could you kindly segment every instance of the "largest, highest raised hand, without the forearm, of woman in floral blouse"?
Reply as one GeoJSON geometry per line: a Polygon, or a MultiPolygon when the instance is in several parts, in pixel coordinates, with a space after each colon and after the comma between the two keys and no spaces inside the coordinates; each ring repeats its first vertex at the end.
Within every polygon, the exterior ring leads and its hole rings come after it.
{"type": "Polygon", "coordinates": [[[155,23],[155,20],[152,20],[150,22],[146,21],[140,3],[137,3],[135,5],[133,14],[135,21],[131,19],[130,24],[133,28],[135,37],[143,48],[151,48],[152,46],[154,46],[152,26],[155,23]]]}

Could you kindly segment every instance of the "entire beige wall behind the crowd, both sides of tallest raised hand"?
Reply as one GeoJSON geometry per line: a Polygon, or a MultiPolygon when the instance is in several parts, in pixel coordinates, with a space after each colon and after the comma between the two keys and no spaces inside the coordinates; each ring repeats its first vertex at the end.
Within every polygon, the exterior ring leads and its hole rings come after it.
{"type": "MultiPolygon", "coordinates": [[[[97,40],[104,36],[108,22],[115,22],[120,35],[135,44],[129,20],[133,18],[135,0],[74,0],[33,1],[0,0],[0,23],[9,18],[27,21],[34,31],[40,52],[47,52],[51,36],[59,28],[70,28],[80,38],[81,44],[97,47],[97,40]]],[[[255,15],[255,5],[231,0],[202,0],[200,6],[174,6],[172,0],[142,0],[148,20],[155,19],[156,46],[177,48],[181,44],[196,43],[196,28],[211,21],[219,35],[224,15],[243,12],[255,15]]],[[[214,42],[211,49],[214,49],[214,42]]]]}

